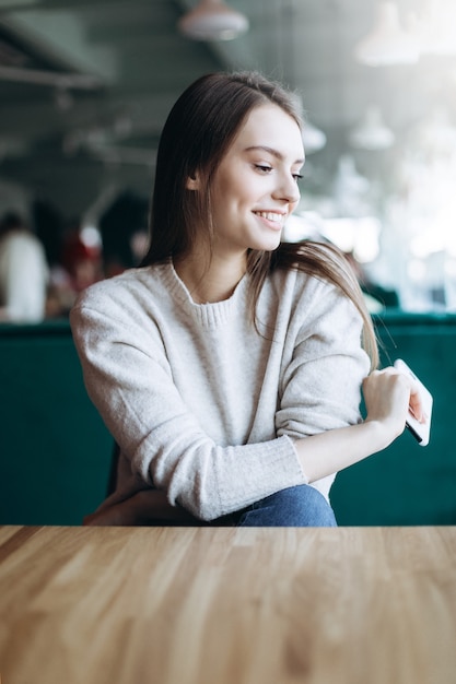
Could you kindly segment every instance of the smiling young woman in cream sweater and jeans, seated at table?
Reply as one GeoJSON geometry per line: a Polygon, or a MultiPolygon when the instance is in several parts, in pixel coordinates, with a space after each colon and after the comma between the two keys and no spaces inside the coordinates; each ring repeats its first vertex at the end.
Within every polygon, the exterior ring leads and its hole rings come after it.
{"type": "Polygon", "coordinates": [[[116,491],[86,523],[335,526],[335,473],[390,444],[409,403],[420,415],[405,375],[370,374],[343,258],[281,243],[304,164],[293,102],[253,73],[190,85],[162,133],[143,264],[72,310],[120,448],[116,491]]]}

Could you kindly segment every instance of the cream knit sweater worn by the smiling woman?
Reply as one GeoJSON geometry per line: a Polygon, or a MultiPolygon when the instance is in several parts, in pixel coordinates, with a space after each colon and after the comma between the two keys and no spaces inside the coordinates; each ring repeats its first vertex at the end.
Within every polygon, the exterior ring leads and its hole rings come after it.
{"type": "MultiPolygon", "coordinates": [[[[71,326],[92,401],[119,444],[109,502],[157,487],[202,520],[307,482],[293,438],[360,420],[361,317],[336,287],[276,272],[195,304],[172,262],[82,293],[71,326]]],[[[325,496],[334,475],[312,483],[325,496]]]]}

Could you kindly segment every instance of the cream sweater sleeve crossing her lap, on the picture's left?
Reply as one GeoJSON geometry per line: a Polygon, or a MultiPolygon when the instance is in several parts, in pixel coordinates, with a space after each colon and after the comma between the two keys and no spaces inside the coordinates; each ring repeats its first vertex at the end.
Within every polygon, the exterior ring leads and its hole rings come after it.
{"type": "Polygon", "coordinates": [[[172,505],[212,520],[306,482],[287,435],[221,447],[204,434],[173,382],[157,331],[145,337],[140,322],[127,327],[84,298],[71,326],[89,396],[138,488],[164,490],[172,505]]]}

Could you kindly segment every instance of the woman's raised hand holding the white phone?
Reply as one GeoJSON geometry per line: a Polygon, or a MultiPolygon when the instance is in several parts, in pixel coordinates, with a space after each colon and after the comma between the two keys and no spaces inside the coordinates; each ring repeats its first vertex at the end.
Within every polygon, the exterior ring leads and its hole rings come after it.
{"type": "Polygon", "coordinates": [[[379,423],[390,440],[404,432],[409,409],[418,421],[425,420],[418,382],[397,368],[374,370],[363,381],[363,394],[365,422],[379,423]]]}

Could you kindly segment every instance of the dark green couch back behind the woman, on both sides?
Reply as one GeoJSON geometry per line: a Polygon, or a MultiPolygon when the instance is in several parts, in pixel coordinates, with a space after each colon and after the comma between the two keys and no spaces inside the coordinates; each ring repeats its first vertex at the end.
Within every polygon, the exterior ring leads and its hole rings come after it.
{"type": "MultiPolygon", "coordinates": [[[[338,474],[340,524],[456,524],[456,316],[376,319],[434,396],[431,441],[405,433],[338,474]]],[[[113,440],[89,400],[67,321],[0,326],[0,523],[80,524],[105,497],[113,440]]]]}

